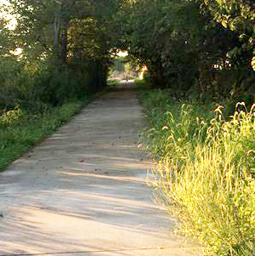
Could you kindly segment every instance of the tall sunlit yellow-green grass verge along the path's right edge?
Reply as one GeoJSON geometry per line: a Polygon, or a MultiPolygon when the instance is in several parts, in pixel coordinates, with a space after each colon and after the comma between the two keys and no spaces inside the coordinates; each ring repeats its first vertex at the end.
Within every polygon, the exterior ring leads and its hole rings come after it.
{"type": "Polygon", "coordinates": [[[208,255],[255,255],[255,106],[224,119],[167,91],[141,95],[151,127],[144,147],[155,159],[151,185],[208,255]]]}

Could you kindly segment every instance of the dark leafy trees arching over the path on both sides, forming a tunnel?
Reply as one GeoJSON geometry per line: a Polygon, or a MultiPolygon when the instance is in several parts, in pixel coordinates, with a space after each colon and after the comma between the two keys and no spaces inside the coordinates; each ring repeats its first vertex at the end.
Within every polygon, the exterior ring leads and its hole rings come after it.
{"type": "Polygon", "coordinates": [[[248,0],[9,0],[1,19],[0,106],[61,105],[107,85],[127,50],[152,88],[176,97],[245,100],[254,94],[255,5],[248,0]],[[22,48],[15,55],[14,49],[22,48]]]}

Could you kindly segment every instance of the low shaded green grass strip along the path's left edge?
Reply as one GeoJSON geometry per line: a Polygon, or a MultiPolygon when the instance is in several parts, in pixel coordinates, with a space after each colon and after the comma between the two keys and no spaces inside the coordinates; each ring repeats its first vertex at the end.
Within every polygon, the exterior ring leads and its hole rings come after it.
{"type": "Polygon", "coordinates": [[[51,107],[39,114],[28,114],[20,109],[2,115],[0,126],[0,170],[31,146],[61,126],[81,110],[88,100],[77,100],[61,106],[51,107]],[[3,122],[4,121],[4,122],[3,122]]]}

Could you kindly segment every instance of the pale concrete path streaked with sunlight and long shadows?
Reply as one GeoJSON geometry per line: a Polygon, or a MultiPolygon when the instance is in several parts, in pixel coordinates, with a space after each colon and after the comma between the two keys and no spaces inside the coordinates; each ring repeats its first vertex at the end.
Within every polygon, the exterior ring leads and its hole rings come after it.
{"type": "Polygon", "coordinates": [[[104,94],[0,174],[0,255],[190,255],[151,202],[134,91],[104,94]]]}

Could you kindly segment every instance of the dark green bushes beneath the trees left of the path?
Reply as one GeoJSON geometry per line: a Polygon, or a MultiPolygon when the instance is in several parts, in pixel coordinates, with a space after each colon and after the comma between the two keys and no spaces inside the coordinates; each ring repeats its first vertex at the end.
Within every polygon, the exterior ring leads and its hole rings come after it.
{"type": "Polygon", "coordinates": [[[86,65],[57,65],[54,60],[25,64],[8,57],[0,63],[0,109],[13,110],[19,104],[27,111],[45,111],[101,90],[106,86],[105,76],[100,61],[86,65]]]}

